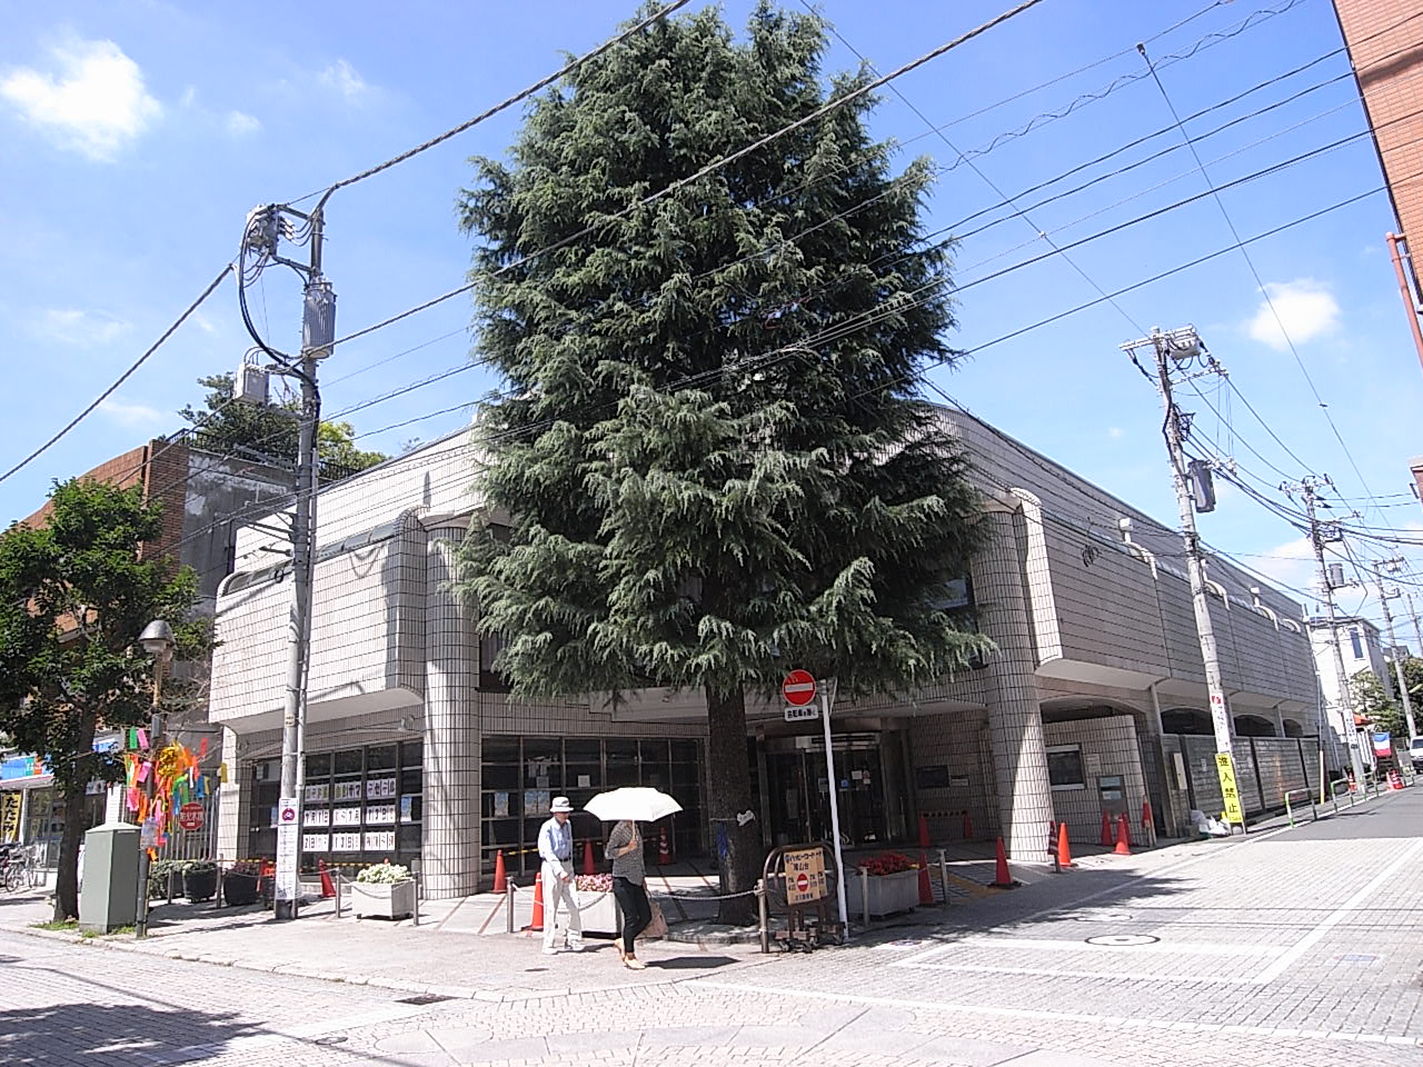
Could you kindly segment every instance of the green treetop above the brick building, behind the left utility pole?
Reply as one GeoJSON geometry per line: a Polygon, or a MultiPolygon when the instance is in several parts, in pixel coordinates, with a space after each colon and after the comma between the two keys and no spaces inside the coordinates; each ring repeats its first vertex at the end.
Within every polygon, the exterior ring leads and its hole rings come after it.
{"type": "MultiPolygon", "coordinates": [[[[199,430],[206,441],[239,455],[295,462],[300,404],[233,404],[232,380],[232,374],[198,378],[198,384],[208,390],[202,408],[189,404],[178,415],[199,430]]],[[[390,458],[384,452],[357,448],[356,428],[350,423],[322,423],[316,431],[316,454],[323,464],[333,464],[343,471],[363,471],[390,458]]]]}

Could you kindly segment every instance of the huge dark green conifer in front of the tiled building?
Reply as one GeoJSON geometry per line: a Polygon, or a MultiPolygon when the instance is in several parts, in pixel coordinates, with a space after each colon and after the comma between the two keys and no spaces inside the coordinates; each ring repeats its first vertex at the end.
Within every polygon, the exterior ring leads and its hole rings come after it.
{"type": "Polygon", "coordinates": [[[515,694],[704,694],[733,893],[760,862],[748,693],[790,667],[905,691],[988,647],[943,607],[978,499],[914,391],[953,356],[945,252],[916,242],[929,162],[892,175],[861,97],[635,206],[820,108],[824,48],[767,4],[744,41],[713,9],[663,20],[536,101],[460,201],[478,346],[512,386],[480,485],[512,525],[471,532],[457,586],[515,694]]]}

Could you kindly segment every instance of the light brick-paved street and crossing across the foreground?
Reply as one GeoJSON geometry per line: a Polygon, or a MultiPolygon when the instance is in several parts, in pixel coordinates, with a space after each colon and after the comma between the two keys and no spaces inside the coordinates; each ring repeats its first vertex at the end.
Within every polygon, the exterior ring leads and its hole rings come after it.
{"type": "Polygon", "coordinates": [[[336,930],[367,984],[0,932],[0,1063],[1416,1067],[1423,790],[1321,827],[1093,861],[845,949],[649,946],[642,976],[609,949],[320,920],[279,928],[287,955],[336,930]],[[461,996],[370,984],[447,945],[480,977],[461,996]]]}

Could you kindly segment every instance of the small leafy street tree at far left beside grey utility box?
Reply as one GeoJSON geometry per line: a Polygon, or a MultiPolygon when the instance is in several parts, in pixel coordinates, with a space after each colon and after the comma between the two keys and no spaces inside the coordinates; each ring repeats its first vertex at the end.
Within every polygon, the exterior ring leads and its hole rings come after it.
{"type": "MultiPolygon", "coordinates": [[[[161,532],[161,509],[139,488],[75,479],[50,502],[47,525],[0,534],[0,731],[44,758],[64,800],[54,918],[65,919],[78,915],[85,787],[122,770],[94,751],[94,734],[141,726],[151,711],[152,660],[138,635],[166,619],[178,657],[196,659],[211,627],[194,613],[192,569],[141,555],[161,532]]],[[[185,694],[174,684],[165,696],[185,694]]]]}

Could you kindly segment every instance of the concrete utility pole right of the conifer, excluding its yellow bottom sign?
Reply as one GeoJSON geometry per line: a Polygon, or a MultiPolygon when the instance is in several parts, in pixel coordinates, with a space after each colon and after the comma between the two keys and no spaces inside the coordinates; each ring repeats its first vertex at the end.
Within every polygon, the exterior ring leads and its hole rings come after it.
{"type": "MultiPolygon", "coordinates": [[[[1185,569],[1191,579],[1191,606],[1195,609],[1195,632],[1201,639],[1201,662],[1205,664],[1205,689],[1211,701],[1211,726],[1215,733],[1215,751],[1229,755],[1234,768],[1232,723],[1229,704],[1225,700],[1225,683],[1221,677],[1221,660],[1215,650],[1215,626],[1211,623],[1211,605],[1207,599],[1205,568],[1201,562],[1201,535],[1195,528],[1195,506],[1191,488],[1187,484],[1187,464],[1183,442],[1188,432],[1188,415],[1183,415],[1171,396],[1171,370],[1177,367],[1190,381],[1204,374],[1224,373],[1220,364],[1205,351],[1195,327],[1187,326],[1171,333],[1151,330],[1150,337],[1127,341],[1121,349],[1136,359],[1138,349],[1150,349],[1155,356],[1157,387],[1161,390],[1161,404],[1165,408],[1165,445],[1171,460],[1171,482],[1175,487],[1175,502],[1181,511],[1181,539],[1185,542],[1185,569]],[[1191,373],[1200,360],[1200,370],[1191,373]]],[[[1214,506],[1214,504],[1212,504],[1214,506]]]]}

